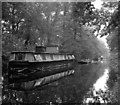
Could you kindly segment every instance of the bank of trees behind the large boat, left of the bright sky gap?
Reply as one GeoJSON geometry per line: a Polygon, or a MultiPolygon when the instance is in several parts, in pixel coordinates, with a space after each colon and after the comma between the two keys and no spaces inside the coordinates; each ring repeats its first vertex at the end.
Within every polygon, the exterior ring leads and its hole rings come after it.
{"type": "Polygon", "coordinates": [[[3,63],[11,51],[31,51],[36,45],[62,45],[63,52],[79,56],[78,60],[101,56],[102,46],[85,27],[92,21],[93,9],[89,2],[3,2],[3,63]]]}

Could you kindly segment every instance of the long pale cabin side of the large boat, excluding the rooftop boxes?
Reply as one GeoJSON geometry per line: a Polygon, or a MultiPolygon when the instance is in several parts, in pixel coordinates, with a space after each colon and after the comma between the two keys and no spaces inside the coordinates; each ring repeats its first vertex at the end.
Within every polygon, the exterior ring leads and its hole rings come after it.
{"type": "Polygon", "coordinates": [[[72,59],[74,59],[74,55],[72,54],[12,52],[10,55],[10,61],[45,62],[72,59]]]}

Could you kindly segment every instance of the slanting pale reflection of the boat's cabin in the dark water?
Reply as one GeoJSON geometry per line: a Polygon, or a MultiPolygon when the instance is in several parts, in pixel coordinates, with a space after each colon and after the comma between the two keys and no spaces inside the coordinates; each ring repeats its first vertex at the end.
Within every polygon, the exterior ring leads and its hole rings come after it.
{"type": "Polygon", "coordinates": [[[46,76],[43,78],[39,78],[33,81],[28,81],[28,82],[21,82],[21,83],[12,83],[9,84],[9,88],[10,89],[14,89],[14,90],[33,90],[33,89],[37,89],[37,87],[42,87],[44,85],[47,85],[51,82],[54,82],[56,80],[59,80],[63,77],[69,76],[74,74],[74,70],[68,70],[68,71],[64,71],[61,73],[57,73],[54,75],[50,75],[50,76],[46,76]]]}

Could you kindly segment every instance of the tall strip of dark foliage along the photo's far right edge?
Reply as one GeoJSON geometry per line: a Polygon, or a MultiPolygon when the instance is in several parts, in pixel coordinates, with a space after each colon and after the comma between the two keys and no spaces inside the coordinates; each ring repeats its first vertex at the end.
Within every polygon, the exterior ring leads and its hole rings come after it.
{"type": "MultiPolygon", "coordinates": [[[[119,93],[119,69],[118,69],[118,64],[119,64],[119,33],[120,33],[120,18],[119,18],[119,12],[120,12],[120,2],[116,2],[114,5],[116,5],[116,10],[111,16],[109,25],[108,25],[108,33],[109,36],[107,38],[108,45],[110,47],[110,78],[108,80],[108,86],[110,86],[110,89],[112,90],[113,93],[115,93],[115,96],[120,95],[119,93]],[[116,5],[117,4],[117,5],[116,5]],[[116,85],[118,83],[118,86],[116,85]],[[114,89],[116,88],[116,89],[114,89]],[[116,92],[118,90],[118,92],[116,92]]],[[[111,5],[109,5],[111,6],[111,5]]],[[[116,100],[119,103],[119,98],[116,97],[116,100]]]]}

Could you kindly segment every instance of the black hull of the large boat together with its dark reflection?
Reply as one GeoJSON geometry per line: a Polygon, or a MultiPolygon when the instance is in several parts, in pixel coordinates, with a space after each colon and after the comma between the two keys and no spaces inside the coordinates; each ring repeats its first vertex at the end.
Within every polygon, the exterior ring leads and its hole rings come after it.
{"type": "Polygon", "coordinates": [[[10,62],[9,83],[28,82],[74,68],[73,60],[52,62],[10,62]]]}

